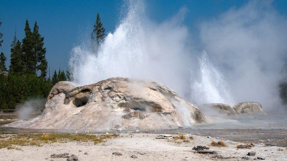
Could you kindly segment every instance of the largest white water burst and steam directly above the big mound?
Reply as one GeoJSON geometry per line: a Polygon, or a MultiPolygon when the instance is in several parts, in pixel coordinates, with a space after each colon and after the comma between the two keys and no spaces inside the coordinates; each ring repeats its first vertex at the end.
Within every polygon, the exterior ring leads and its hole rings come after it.
{"type": "Polygon", "coordinates": [[[109,77],[153,79],[188,94],[187,28],[185,8],[160,24],[146,18],[142,2],[132,3],[114,33],[108,33],[97,53],[89,45],[73,48],[70,68],[77,84],[92,84],[109,77]],[[180,18],[178,18],[180,17],[180,18]]]}

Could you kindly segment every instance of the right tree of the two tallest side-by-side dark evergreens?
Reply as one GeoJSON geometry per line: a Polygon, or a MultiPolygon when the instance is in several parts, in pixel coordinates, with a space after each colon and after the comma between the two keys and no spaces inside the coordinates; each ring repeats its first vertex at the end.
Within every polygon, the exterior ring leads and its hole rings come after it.
{"type": "Polygon", "coordinates": [[[41,78],[46,78],[47,75],[47,66],[48,62],[46,60],[46,48],[44,48],[44,37],[41,37],[39,34],[39,26],[37,25],[37,21],[35,21],[35,25],[33,28],[33,50],[36,57],[37,65],[36,70],[41,71],[41,78]]]}

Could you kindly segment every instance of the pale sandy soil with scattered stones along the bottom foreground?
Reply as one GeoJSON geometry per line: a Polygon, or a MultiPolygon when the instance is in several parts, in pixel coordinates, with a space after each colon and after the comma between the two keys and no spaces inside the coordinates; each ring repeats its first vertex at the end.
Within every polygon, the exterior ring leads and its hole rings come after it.
{"type": "MultiPolygon", "coordinates": [[[[189,135],[186,135],[188,138],[189,135]]],[[[266,146],[256,144],[252,149],[237,149],[236,142],[224,140],[227,147],[213,147],[209,144],[216,138],[206,138],[193,135],[190,143],[182,140],[170,141],[167,139],[156,139],[156,134],[120,134],[118,138],[108,139],[107,142],[94,145],[93,142],[71,141],[67,143],[44,144],[41,147],[19,146],[21,150],[0,149],[0,160],[66,160],[66,158],[51,158],[51,154],[69,153],[77,155],[79,160],[242,160],[250,151],[255,151],[255,156],[266,157],[265,160],[287,160],[287,149],[278,150],[278,146],[266,146]],[[204,145],[210,150],[217,151],[217,154],[199,154],[191,150],[193,146],[204,145]],[[82,150],[82,152],[79,152],[82,150]],[[267,150],[267,151],[265,151],[267,150]],[[88,152],[88,155],[84,155],[88,152]],[[113,152],[120,152],[121,156],[113,155],[113,152]],[[140,152],[145,154],[141,155],[140,152]],[[138,158],[132,158],[136,155],[138,158]],[[220,155],[225,158],[218,158],[220,155]],[[226,159],[226,157],[231,157],[226,159]]]]}

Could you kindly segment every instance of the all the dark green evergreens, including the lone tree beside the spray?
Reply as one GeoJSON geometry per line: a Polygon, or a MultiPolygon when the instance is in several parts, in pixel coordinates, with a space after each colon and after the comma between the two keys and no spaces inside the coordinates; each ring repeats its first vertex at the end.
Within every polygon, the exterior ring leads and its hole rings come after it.
{"type": "MultiPolygon", "coordinates": [[[[0,21],[0,27],[2,22],[0,21]]],[[[1,30],[0,30],[1,31],[1,30]]],[[[72,81],[67,70],[52,71],[52,78],[47,77],[48,62],[44,37],[39,33],[37,22],[31,30],[28,19],[26,20],[25,37],[20,41],[16,37],[11,42],[9,70],[5,65],[7,58],[0,54],[0,110],[15,109],[17,104],[31,98],[47,98],[51,88],[59,81],[72,81]],[[54,74],[53,74],[54,73],[54,74]]],[[[94,30],[91,33],[91,42],[99,45],[104,40],[105,29],[97,15],[94,30]]],[[[3,33],[0,32],[0,47],[3,43],[3,33]]],[[[94,46],[97,46],[94,45],[94,46]]]]}

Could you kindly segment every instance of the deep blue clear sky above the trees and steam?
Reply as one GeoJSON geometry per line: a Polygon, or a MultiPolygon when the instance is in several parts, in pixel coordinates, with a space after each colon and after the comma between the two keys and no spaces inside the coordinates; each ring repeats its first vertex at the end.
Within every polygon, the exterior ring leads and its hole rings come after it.
{"type": "MultiPolygon", "coordinates": [[[[181,7],[188,12],[185,25],[196,30],[196,22],[211,19],[227,11],[231,7],[241,7],[248,1],[235,0],[198,0],[198,1],[164,1],[147,0],[146,13],[156,22],[176,14],[181,7]]],[[[33,28],[37,21],[39,33],[44,36],[46,59],[50,70],[69,70],[69,53],[74,45],[81,41],[83,32],[90,32],[96,20],[97,12],[106,28],[106,33],[113,32],[121,19],[123,1],[11,1],[0,2],[0,32],[4,34],[0,52],[10,61],[10,44],[16,27],[17,38],[24,38],[24,26],[28,18],[33,28]]],[[[287,1],[274,1],[273,6],[282,15],[287,15],[287,1]]]]}

